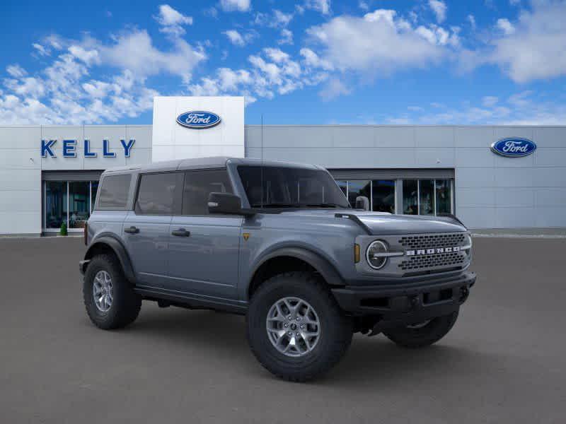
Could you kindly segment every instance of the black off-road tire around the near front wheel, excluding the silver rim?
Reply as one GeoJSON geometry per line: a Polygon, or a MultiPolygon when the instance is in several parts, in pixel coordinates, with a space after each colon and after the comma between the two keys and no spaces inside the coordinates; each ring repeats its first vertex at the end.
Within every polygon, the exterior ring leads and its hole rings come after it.
{"type": "Polygon", "coordinates": [[[292,382],[305,382],[328,372],[352,343],[352,320],[345,317],[325,283],[309,272],[282,273],[262,283],[250,300],[246,324],[255,358],[272,374],[292,382]],[[297,358],[277,351],[267,337],[267,313],[285,297],[306,300],[320,320],[320,338],[313,351],[297,358]]]}

